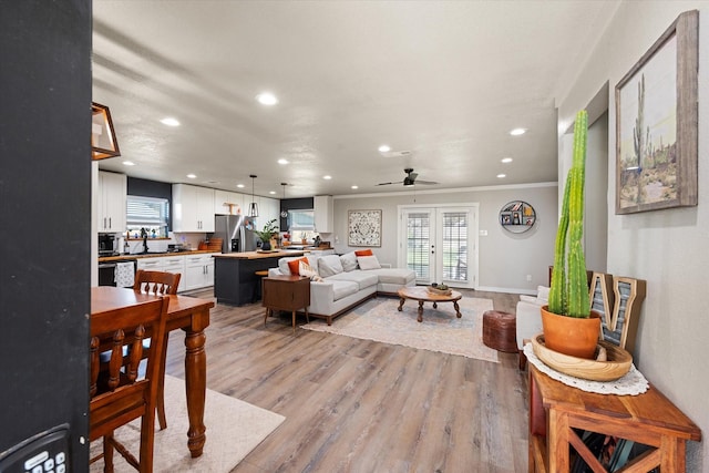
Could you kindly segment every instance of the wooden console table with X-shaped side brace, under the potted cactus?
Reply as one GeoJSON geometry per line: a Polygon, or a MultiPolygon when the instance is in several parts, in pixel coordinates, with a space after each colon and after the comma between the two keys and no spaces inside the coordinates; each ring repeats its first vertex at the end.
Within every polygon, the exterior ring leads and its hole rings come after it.
{"type": "Polygon", "coordinates": [[[701,440],[699,428],[660,391],[639,395],[596,394],[553,380],[530,364],[530,472],[571,470],[569,445],[594,472],[605,472],[573,429],[649,445],[625,473],[685,471],[686,441],[701,440]]]}

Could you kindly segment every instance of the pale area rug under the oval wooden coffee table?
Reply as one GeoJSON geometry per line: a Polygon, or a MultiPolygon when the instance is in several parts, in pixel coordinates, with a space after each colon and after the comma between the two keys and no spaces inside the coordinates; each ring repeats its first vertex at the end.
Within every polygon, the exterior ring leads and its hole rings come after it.
{"type": "Polygon", "coordinates": [[[438,309],[425,302],[423,321],[418,322],[418,301],[407,300],[400,312],[399,299],[380,297],[336,318],[331,326],[315,319],[301,328],[499,362],[497,351],[483,345],[483,312],[493,308],[492,300],[463,297],[459,305],[460,319],[452,302],[440,302],[438,309]]]}

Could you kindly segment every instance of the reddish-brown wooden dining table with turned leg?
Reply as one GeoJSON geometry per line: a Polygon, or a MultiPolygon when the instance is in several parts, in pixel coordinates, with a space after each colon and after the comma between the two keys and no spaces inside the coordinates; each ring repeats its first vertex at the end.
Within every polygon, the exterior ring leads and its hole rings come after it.
{"type": "MultiPolygon", "coordinates": [[[[99,286],[91,288],[91,315],[122,307],[137,306],[158,296],[136,292],[131,288],[99,286]]],[[[187,395],[187,448],[192,457],[202,455],[206,441],[204,401],[207,389],[207,354],[204,349],[205,328],[214,302],[186,296],[169,296],[167,331],[185,332],[185,391],[187,395]]]]}

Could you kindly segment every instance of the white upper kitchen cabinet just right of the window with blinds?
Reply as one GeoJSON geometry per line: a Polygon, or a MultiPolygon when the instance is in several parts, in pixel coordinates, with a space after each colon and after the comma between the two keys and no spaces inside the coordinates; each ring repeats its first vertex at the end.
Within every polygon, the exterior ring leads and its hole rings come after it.
{"type": "Polygon", "coordinates": [[[214,189],[173,184],[173,232],[214,232],[214,189]]]}

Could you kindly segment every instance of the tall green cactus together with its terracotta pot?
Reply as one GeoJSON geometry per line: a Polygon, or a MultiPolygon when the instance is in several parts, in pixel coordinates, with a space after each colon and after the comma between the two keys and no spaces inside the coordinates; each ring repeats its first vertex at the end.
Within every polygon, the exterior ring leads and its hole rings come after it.
{"type": "Polygon", "coordinates": [[[600,316],[590,310],[582,243],[587,131],[588,114],[582,110],[574,124],[574,157],[564,188],[552,286],[548,306],[542,307],[542,326],[546,348],[590,359],[598,343],[600,316]]]}

